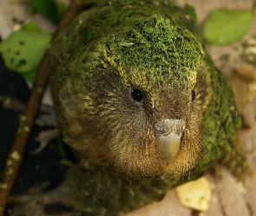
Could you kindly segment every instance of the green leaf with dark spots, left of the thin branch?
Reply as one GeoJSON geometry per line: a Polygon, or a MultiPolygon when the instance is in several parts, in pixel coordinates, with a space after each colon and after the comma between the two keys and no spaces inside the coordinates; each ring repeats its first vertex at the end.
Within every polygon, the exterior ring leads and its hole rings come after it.
{"type": "Polygon", "coordinates": [[[5,66],[18,73],[28,73],[23,76],[33,79],[50,37],[50,34],[43,33],[33,23],[24,24],[0,43],[0,54],[5,66]]]}

